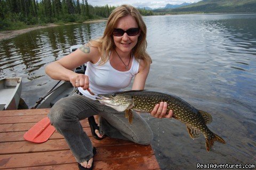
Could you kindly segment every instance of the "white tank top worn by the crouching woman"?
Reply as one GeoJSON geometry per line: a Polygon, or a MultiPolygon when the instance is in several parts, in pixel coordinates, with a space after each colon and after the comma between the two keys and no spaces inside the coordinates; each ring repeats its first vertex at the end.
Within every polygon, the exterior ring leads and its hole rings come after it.
{"type": "MultiPolygon", "coordinates": [[[[100,59],[101,60],[101,59],[100,59]]],[[[132,66],[128,71],[118,71],[114,69],[109,60],[102,65],[99,65],[100,60],[93,64],[87,62],[85,75],[89,77],[89,87],[94,94],[106,94],[119,92],[122,88],[130,85],[132,77],[139,72],[139,62],[132,56],[132,66]]],[[[87,90],[78,87],[86,97],[95,100],[95,96],[91,95],[87,90]]]]}

